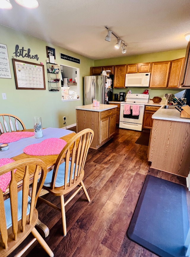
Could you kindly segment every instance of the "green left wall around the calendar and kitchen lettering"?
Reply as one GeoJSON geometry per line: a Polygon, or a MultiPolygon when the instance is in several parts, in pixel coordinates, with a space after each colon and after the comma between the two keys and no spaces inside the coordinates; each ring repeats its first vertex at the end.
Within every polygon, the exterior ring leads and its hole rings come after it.
{"type": "Polygon", "coordinates": [[[18,116],[27,129],[32,128],[32,117],[34,116],[42,117],[42,126],[44,128],[63,127],[63,116],[66,117],[67,126],[76,123],[75,107],[83,105],[83,77],[90,75],[90,67],[94,66],[94,60],[2,25],[0,25],[0,35],[0,43],[7,45],[12,75],[12,79],[0,78],[0,113],[10,113],[18,116]],[[25,50],[30,48],[31,55],[38,55],[38,61],[27,57],[22,58],[21,56],[17,59],[33,63],[42,62],[44,64],[46,90],[16,90],[12,66],[16,45],[19,45],[19,48],[24,47],[25,50]],[[61,90],[59,92],[48,91],[46,46],[55,48],[56,63],[58,65],[63,64],[80,68],[79,101],[62,102],[61,90]],[[60,53],[79,58],[80,64],[60,59],[60,53]],[[6,93],[7,100],[2,99],[2,93],[6,93]]]}

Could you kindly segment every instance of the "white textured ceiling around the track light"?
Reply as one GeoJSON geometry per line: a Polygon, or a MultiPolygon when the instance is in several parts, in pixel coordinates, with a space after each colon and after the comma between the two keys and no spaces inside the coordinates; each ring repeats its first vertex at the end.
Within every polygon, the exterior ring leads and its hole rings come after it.
{"type": "Polygon", "coordinates": [[[94,60],[185,49],[190,32],[189,0],[38,0],[37,9],[10,2],[0,24],[94,60]],[[113,35],[105,41],[104,26],[126,42],[125,54],[113,35]]]}

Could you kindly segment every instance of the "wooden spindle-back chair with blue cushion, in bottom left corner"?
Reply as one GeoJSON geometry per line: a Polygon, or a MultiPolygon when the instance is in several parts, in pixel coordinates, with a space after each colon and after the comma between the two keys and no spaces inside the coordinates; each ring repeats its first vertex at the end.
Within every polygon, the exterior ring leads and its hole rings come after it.
{"type": "Polygon", "coordinates": [[[35,206],[47,174],[45,163],[37,158],[26,158],[0,167],[0,175],[7,172],[11,173],[9,198],[4,200],[5,196],[0,189],[0,256],[8,256],[31,233],[34,238],[15,256],[21,256],[37,240],[52,257],[53,252],[34,227],[38,220],[35,206]],[[22,190],[19,191],[14,172],[15,169],[19,172],[20,167],[24,167],[25,173],[23,177],[21,175],[22,190]],[[33,183],[30,193],[31,174],[33,174],[33,183]],[[41,174],[40,178],[39,174],[41,174]]]}

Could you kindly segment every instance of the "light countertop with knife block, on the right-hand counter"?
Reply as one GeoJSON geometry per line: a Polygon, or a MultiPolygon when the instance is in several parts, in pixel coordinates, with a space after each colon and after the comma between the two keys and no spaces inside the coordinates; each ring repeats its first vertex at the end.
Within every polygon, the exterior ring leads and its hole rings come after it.
{"type": "MultiPolygon", "coordinates": [[[[164,104],[165,105],[165,104],[164,104]]],[[[164,105],[162,107],[164,107],[164,105]]],[[[157,120],[173,120],[173,121],[181,121],[181,122],[189,122],[188,118],[180,118],[180,112],[174,109],[164,109],[160,107],[153,115],[153,119],[157,120]]]]}

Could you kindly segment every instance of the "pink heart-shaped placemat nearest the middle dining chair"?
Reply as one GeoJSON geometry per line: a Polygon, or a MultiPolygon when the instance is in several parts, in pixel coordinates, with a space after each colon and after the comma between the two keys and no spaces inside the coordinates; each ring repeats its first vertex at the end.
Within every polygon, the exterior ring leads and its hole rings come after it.
{"type": "Polygon", "coordinates": [[[23,152],[29,155],[53,155],[59,154],[65,145],[63,139],[48,138],[41,143],[26,146],[23,152]]]}

